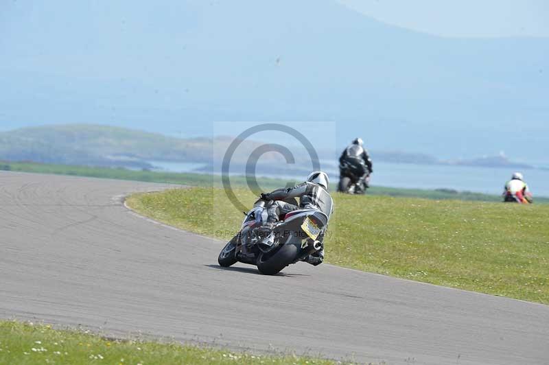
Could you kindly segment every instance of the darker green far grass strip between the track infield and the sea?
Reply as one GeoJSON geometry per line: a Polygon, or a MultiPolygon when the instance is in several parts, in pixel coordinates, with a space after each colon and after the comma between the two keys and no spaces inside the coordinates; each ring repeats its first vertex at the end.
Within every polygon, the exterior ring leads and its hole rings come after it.
{"type": "MultiPolygon", "coordinates": [[[[12,163],[1,162],[0,170],[15,172],[34,172],[37,174],[59,174],[71,176],[89,176],[94,178],[114,178],[119,180],[145,181],[149,183],[169,183],[189,186],[213,186],[221,187],[219,176],[209,174],[180,174],[173,172],[135,171],[122,168],[52,165],[43,163],[12,163]]],[[[261,187],[270,190],[284,186],[286,181],[273,178],[259,178],[261,187]]],[[[231,184],[235,187],[245,187],[246,178],[232,176],[231,184]]],[[[336,186],[333,186],[336,189],[336,186]]],[[[435,200],[475,200],[486,202],[498,202],[500,196],[471,193],[469,191],[423,190],[423,189],[399,189],[393,187],[372,187],[368,190],[371,196],[395,196],[404,198],[426,198],[435,200]]],[[[538,203],[549,203],[549,198],[536,198],[538,203]]]]}

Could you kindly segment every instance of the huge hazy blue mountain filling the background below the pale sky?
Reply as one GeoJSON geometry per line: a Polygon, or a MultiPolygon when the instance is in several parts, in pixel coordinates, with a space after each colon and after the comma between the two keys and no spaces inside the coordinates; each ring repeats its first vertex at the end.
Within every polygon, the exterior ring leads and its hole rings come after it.
{"type": "Polygon", "coordinates": [[[341,147],[447,158],[549,143],[547,38],[439,38],[332,0],[12,1],[0,32],[4,128],[329,120],[341,147]]]}

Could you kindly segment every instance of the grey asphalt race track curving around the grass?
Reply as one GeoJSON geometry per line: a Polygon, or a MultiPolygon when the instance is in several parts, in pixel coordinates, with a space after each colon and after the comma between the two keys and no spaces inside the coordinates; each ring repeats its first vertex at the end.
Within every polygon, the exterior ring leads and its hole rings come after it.
{"type": "Polygon", "coordinates": [[[549,307],[305,263],[222,270],[223,242],[121,196],[166,185],[0,173],[0,317],[387,364],[549,364],[549,307]]]}

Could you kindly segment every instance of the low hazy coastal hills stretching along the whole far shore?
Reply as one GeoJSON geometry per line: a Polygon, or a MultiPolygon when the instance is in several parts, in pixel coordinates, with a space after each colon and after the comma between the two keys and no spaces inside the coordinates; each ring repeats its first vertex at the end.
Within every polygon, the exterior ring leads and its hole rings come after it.
{"type": "MultiPolygon", "coordinates": [[[[0,161],[34,161],[73,165],[124,166],[151,168],[151,161],[202,163],[202,171],[220,167],[233,137],[179,139],[128,128],[67,124],[21,128],[0,132],[0,161]]],[[[235,151],[231,166],[244,171],[248,158],[264,142],[246,140],[235,151]],[[240,168],[240,169],[239,169],[240,168]]],[[[321,147],[321,146],[317,146],[321,147]]],[[[308,154],[288,145],[296,158],[294,169],[309,169],[308,154]]],[[[337,164],[340,151],[318,148],[318,156],[337,164]]],[[[396,151],[371,151],[375,162],[414,163],[419,165],[469,165],[484,167],[521,167],[529,165],[509,161],[506,156],[471,160],[441,160],[428,154],[396,151]]],[[[261,154],[261,169],[283,174],[290,168],[277,152],[261,154]]]]}

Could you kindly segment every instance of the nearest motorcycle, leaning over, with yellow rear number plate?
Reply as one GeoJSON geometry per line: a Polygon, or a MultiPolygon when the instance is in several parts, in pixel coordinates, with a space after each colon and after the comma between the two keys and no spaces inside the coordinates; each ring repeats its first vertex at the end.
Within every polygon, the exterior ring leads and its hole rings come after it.
{"type": "MultiPolygon", "coordinates": [[[[297,205],[295,199],[287,202],[297,205]]],[[[315,209],[298,209],[267,228],[263,223],[272,203],[261,199],[255,202],[240,232],[221,250],[220,266],[227,268],[240,261],[257,266],[261,274],[274,275],[322,249],[319,238],[325,234],[327,215],[315,209]]]]}

